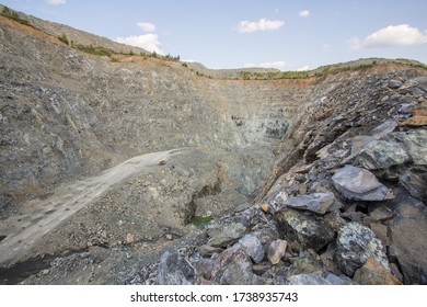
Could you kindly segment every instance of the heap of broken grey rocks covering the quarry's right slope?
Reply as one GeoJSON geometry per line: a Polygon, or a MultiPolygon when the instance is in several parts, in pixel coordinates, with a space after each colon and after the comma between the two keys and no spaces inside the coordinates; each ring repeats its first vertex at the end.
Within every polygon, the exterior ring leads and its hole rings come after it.
{"type": "Polygon", "coordinates": [[[130,283],[427,284],[427,130],[399,125],[427,107],[413,77],[333,89],[289,136],[310,135],[302,158],[261,201],[130,283]]]}

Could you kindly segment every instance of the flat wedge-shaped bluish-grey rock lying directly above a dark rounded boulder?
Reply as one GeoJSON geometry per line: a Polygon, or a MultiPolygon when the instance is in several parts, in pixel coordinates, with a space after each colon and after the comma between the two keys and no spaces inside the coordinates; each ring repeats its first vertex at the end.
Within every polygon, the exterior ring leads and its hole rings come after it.
{"type": "Polygon", "coordinates": [[[326,193],[313,193],[298,197],[290,197],[284,202],[277,202],[285,207],[291,207],[296,209],[311,211],[318,214],[325,214],[330,206],[334,203],[335,196],[331,192],[326,193]]]}

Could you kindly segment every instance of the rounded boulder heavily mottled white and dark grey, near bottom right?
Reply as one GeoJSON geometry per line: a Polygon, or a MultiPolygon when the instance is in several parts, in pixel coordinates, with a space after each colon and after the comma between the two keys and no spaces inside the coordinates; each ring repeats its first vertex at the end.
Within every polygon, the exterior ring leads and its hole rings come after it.
{"type": "Polygon", "coordinates": [[[335,258],[339,270],[347,276],[353,276],[369,258],[390,270],[381,241],[371,229],[354,221],[338,231],[335,258]]]}

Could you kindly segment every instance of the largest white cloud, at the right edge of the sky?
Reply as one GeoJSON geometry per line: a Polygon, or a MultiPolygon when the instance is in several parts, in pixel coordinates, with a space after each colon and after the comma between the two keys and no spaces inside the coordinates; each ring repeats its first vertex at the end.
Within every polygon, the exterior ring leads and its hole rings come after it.
{"type": "Polygon", "coordinates": [[[419,45],[427,43],[427,32],[422,33],[408,24],[389,25],[368,35],[363,41],[354,37],[347,43],[353,49],[419,45]]]}

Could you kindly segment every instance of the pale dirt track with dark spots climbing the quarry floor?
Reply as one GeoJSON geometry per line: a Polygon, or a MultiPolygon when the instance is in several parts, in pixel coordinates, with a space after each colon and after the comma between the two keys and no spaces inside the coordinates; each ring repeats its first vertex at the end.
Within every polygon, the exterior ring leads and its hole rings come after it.
{"type": "Polygon", "coordinates": [[[131,158],[97,177],[59,186],[46,200],[35,200],[23,206],[20,215],[0,221],[0,266],[19,262],[25,253],[46,234],[56,229],[81,208],[91,204],[109,186],[140,173],[148,167],[166,161],[174,149],[131,158]]]}

